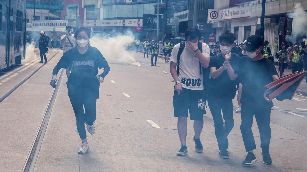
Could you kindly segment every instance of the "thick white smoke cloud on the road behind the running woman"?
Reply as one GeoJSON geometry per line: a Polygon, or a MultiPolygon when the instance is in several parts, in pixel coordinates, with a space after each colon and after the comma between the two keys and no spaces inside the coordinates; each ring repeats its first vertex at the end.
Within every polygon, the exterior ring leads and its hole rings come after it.
{"type": "Polygon", "coordinates": [[[107,34],[95,34],[90,39],[91,46],[96,47],[107,62],[140,66],[140,63],[136,62],[134,57],[126,50],[127,44],[132,42],[134,42],[132,32],[126,32],[124,35],[117,34],[112,37],[107,34]]]}

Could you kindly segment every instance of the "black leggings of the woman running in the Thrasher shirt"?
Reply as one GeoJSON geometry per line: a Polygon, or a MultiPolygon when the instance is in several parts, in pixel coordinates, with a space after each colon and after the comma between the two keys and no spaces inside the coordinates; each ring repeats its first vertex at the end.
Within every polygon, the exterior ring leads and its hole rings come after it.
{"type": "Polygon", "coordinates": [[[84,122],[93,125],[96,120],[96,98],[94,96],[69,96],[72,103],[72,109],[76,115],[77,130],[81,139],[86,139],[84,122]],[[83,108],[84,105],[84,108],[83,108]],[[85,113],[84,113],[85,110],[85,113]]]}

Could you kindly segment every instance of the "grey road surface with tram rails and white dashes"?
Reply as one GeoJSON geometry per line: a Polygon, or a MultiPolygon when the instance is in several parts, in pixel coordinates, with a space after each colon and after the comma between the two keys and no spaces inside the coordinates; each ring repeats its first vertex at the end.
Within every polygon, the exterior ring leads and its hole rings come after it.
{"type": "MultiPolygon", "coordinates": [[[[77,154],[81,143],[69,102],[66,75],[63,75],[34,171],[307,171],[307,97],[273,100],[271,112],[272,165],[262,163],[260,138],[254,120],[253,132],[258,159],[253,166],[241,165],[246,154],[240,132],[240,114],[234,114],[235,126],[229,139],[230,159],[218,156],[214,123],[209,108],[204,115],[200,139],[202,153],[194,151],[193,123],[188,120],[188,155],[176,156],[180,149],[177,118],[173,117],[173,82],[169,63],[131,53],[141,66],[110,64],[111,71],[100,84],[97,101],[96,133],[88,134],[90,151],[77,154]]],[[[52,95],[49,86],[57,54],[2,103],[0,171],[20,171],[24,166],[42,116],[52,95]],[[4,150],[4,151],[3,151],[4,150]],[[3,153],[4,152],[4,153],[3,153]]],[[[10,79],[0,75],[1,96],[14,87],[17,77],[28,76],[35,63],[10,79]],[[6,89],[3,85],[6,85],[6,89]]],[[[11,69],[14,70],[17,68],[11,69]]],[[[14,75],[14,74],[13,74],[14,75]]],[[[237,106],[236,98],[233,100],[237,106]]],[[[236,107],[234,107],[236,110],[236,107]]]]}

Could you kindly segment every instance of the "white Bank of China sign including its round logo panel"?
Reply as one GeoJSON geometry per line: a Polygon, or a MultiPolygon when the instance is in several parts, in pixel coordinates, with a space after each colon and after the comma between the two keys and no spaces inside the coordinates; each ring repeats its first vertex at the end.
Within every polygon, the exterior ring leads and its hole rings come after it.
{"type": "Polygon", "coordinates": [[[246,8],[227,8],[227,9],[208,9],[208,23],[219,23],[219,21],[245,18],[251,16],[251,9],[246,8]]]}

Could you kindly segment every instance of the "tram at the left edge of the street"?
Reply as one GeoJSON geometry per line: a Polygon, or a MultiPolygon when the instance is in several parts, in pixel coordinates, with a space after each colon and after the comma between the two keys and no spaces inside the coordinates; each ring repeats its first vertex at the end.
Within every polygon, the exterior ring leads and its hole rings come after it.
{"type": "Polygon", "coordinates": [[[26,0],[0,0],[0,70],[25,58],[26,0]]]}

